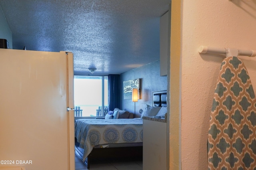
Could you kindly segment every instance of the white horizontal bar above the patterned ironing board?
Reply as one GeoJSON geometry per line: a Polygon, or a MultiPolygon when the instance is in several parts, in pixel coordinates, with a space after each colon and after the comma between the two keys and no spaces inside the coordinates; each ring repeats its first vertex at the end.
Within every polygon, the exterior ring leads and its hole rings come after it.
{"type": "Polygon", "coordinates": [[[198,49],[199,53],[217,53],[224,54],[226,57],[244,55],[249,57],[255,57],[255,50],[244,50],[244,49],[236,49],[236,48],[218,48],[218,47],[208,47],[208,46],[200,46],[198,49]]]}

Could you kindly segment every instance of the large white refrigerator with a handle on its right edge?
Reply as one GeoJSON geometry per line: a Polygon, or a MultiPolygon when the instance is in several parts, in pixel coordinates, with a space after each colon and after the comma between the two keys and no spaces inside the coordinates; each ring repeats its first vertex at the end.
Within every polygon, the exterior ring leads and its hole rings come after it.
{"type": "Polygon", "coordinates": [[[0,49],[0,170],[75,169],[73,65],[65,51],[0,49]]]}

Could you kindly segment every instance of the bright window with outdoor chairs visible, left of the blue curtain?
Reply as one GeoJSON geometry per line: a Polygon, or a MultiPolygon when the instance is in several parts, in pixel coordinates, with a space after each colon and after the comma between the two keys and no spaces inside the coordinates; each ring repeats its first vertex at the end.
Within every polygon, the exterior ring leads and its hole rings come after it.
{"type": "Polygon", "coordinates": [[[74,104],[76,117],[105,116],[108,107],[108,77],[75,75],[74,104]],[[77,114],[78,107],[82,110],[80,115],[77,114]]]}

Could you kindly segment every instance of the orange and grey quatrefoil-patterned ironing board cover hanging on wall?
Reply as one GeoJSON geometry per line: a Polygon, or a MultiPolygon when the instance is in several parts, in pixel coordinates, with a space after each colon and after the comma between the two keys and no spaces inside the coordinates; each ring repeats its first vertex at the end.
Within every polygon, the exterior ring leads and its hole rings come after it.
{"type": "Polygon", "coordinates": [[[208,134],[209,170],[256,170],[256,99],[246,67],[223,60],[208,134]]]}

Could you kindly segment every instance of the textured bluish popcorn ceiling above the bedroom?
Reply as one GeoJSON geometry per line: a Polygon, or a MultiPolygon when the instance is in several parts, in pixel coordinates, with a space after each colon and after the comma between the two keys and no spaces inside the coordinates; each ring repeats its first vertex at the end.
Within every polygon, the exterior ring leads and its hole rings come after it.
{"type": "Polygon", "coordinates": [[[159,59],[170,0],[0,0],[13,49],[71,51],[74,71],[124,73],[159,59]]]}

